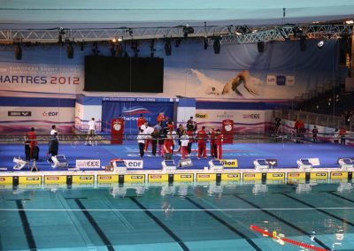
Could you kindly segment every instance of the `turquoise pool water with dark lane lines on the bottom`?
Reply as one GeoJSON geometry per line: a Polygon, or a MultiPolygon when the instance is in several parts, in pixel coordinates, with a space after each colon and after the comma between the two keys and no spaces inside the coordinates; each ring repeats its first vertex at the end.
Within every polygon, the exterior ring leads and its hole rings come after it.
{"type": "Polygon", "coordinates": [[[354,250],[350,183],[0,190],[1,250],[354,250]],[[275,238],[250,229],[256,225],[275,238]]]}

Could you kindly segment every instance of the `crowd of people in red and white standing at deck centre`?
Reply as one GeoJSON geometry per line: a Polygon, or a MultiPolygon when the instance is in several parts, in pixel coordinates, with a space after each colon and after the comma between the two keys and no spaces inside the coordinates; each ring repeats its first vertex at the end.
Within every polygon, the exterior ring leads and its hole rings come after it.
{"type": "Polygon", "coordinates": [[[137,119],[137,128],[139,133],[137,141],[139,145],[139,154],[141,157],[151,146],[153,156],[163,156],[165,159],[172,159],[173,151],[178,144],[177,152],[181,152],[181,159],[191,155],[192,145],[197,144],[197,158],[207,158],[206,142],[210,141],[210,156],[221,159],[223,135],[219,129],[205,131],[205,126],[197,130],[196,121],[190,117],[185,127],[178,125],[175,129],[171,118],[165,119],[163,113],[158,115],[157,125],[149,125],[146,118],[141,114],[137,119]]]}

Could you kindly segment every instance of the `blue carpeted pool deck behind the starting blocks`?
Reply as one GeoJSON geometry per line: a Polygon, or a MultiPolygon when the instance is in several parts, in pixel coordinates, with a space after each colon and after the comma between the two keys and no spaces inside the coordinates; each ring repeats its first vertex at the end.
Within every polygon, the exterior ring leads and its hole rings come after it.
{"type": "MultiPolygon", "coordinates": [[[[47,163],[47,144],[39,146],[40,159],[37,163],[40,171],[52,171],[47,163]]],[[[209,147],[209,145],[207,146],[209,147]]],[[[191,159],[193,166],[185,169],[203,169],[211,159],[197,159],[196,145],[192,148],[191,159]]],[[[209,148],[207,148],[209,154],[209,148]]],[[[108,165],[113,158],[141,159],[138,156],[137,144],[127,143],[124,145],[99,145],[72,147],[68,144],[60,144],[59,154],[65,155],[70,167],[75,167],[77,159],[100,159],[101,165],[108,165]]],[[[0,145],[0,167],[12,171],[14,156],[24,156],[23,145],[0,145]]],[[[209,156],[209,155],[208,155],[209,156]]],[[[324,144],[295,144],[295,143],[239,143],[223,146],[223,159],[237,159],[238,168],[253,168],[253,160],[257,158],[270,158],[278,160],[278,168],[296,168],[296,160],[299,158],[319,158],[319,168],[338,167],[338,157],[352,157],[353,148],[331,143],[324,144]]],[[[179,153],[175,153],[173,159],[176,163],[181,159],[179,153]]],[[[143,157],[143,169],[158,170],[161,168],[162,157],[152,156],[150,149],[143,157]]],[[[56,169],[57,171],[58,169],[56,169]]]]}

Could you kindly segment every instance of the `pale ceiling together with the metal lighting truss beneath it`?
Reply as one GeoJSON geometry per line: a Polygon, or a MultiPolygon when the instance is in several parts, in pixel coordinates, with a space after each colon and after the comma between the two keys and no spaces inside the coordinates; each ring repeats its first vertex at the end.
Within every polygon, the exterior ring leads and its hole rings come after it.
{"type": "Polygon", "coordinates": [[[336,38],[352,34],[350,19],[352,0],[0,0],[0,43],[336,38]]]}

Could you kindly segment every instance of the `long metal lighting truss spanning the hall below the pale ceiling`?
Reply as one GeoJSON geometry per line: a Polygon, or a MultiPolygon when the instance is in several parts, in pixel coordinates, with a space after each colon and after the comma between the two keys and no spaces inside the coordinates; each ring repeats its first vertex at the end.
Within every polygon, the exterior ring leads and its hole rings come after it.
{"type": "Polygon", "coordinates": [[[176,38],[208,38],[224,43],[285,41],[300,38],[335,39],[353,33],[352,25],[283,25],[283,26],[224,26],[224,27],[119,27],[97,29],[0,30],[0,44],[16,42],[102,42],[117,40],[151,40],[176,38]]]}

